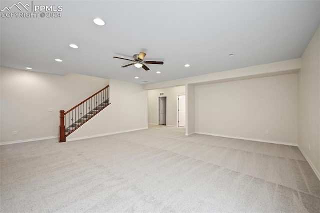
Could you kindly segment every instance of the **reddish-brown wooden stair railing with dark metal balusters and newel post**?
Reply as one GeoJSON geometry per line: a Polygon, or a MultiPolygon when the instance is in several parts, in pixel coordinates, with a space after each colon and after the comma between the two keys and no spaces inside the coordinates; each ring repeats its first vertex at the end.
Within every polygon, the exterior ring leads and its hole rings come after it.
{"type": "Polygon", "coordinates": [[[66,112],[59,111],[59,142],[65,142],[68,135],[110,104],[108,88],[109,85],[66,112]]]}

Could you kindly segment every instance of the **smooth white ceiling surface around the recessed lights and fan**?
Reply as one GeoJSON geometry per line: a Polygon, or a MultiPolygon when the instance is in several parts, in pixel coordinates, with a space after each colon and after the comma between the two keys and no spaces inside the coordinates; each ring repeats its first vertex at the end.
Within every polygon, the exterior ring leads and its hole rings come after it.
{"type": "MultiPolygon", "coordinates": [[[[1,0],[0,9],[17,2],[1,0]]],[[[63,10],[55,18],[1,17],[1,66],[140,84],[299,58],[320,24],[319,0],[21,2],[63,10]],[[105,25],[95,25],[96,17],[105,25]],[[130,59],[140,51],[145,60],[164,64],[135,70],[120,67],[130,61],[112,58],[130,59]]]]}

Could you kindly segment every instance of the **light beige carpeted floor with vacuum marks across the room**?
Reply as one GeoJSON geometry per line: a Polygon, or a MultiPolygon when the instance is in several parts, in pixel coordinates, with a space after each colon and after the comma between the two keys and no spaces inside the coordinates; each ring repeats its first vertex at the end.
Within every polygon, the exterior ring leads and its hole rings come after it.
{"type": "Polygon", "coordinates": [[[320,212],[297,147],[184,131],[0,146],[0,212],[320,212]]]}

